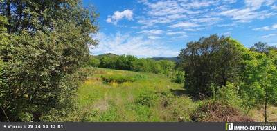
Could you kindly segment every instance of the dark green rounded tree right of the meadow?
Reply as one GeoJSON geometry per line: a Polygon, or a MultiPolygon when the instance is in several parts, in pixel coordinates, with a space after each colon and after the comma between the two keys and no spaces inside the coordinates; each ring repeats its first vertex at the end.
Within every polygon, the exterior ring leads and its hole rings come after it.
{"type": "Polygon", "coordinates": [[[186,72],[185,86],[190,96],[210,97],[211,85],[225,86],[238,79],[242,45],[230,37],[202,37],[187,43],[179,54],[180,65],[186,72]]]}

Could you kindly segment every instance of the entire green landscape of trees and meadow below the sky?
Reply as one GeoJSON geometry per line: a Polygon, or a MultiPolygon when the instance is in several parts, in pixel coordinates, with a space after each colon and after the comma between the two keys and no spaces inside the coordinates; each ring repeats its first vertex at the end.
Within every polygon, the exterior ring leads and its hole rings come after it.
{"type": "Polygon", "coordinates": [[[277,121],[276,47],[213,34],[177,59],[90,56],[97,17],[0,0],[0,121],[277,121]]]}

